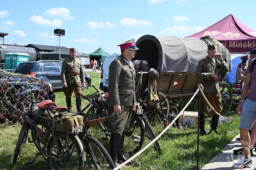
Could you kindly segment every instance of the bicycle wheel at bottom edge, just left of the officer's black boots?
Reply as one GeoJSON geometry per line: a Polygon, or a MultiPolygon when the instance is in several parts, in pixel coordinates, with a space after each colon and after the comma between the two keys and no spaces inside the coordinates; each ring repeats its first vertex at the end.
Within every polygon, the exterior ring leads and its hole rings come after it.
{"type": "Polygon", "coordinates": [[[85,137],[86,152],[97,170],[114,169],[115,165],[108,151],[94,137],[85,137]]]}

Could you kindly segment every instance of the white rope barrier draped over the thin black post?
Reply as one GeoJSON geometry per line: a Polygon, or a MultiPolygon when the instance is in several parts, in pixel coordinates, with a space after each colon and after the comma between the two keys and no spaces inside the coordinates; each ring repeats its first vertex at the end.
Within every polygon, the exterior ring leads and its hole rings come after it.
{"type": "Polygon", "coordinates": [[[180,111],[180,113],[172,120],[172,122],[154,139],[152,140],[149,144],[147,144],[143,149],[141,149],[139,152],[135,153],[132,157],[130,157],[128,160],[126,160],[125,162],[123,162],[121,165],[119,165],[118,167],[116,167],[114,170],[118,170],[120,168],[122,168],[123,166],[125,166],[128,162],[130,162],[131,160],[133,160],[134,158],[138,157],[138,155],[140,155],[142,152],[144,152],[146,149],[148,149],[148,147],[150,147],[156,140],[158,140],[172,125],[173,123],[183,114],[183,112],[185,111],[185,109],[187,108],[187,106],[189,106],[190,102],[194,99],[195,95],[198,93],[198,91],[200,90],[202,96],[204,97],[205,101],[207,102],[207,104],[212,108],[212,110],[218,114],[219,116],[226,118],[224,116],[222,116],[221,114],[219,114],[210,104],[210,102],[207,100],[207,98],[204,95],[203,90],[204,87],[202,86],[202,84],[198,85],[198,89],[197,91],[195,91],[194,95],[191,97],[191,99],[189,100],[189,102],[187,102],[187,104],[184,106],[184,108],[180,111]]]}

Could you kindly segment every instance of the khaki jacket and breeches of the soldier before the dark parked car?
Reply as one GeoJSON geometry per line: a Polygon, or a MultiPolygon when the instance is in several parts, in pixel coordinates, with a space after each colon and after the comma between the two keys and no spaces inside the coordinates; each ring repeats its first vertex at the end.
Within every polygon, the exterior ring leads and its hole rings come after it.
{"type": "Polygon", "coordinates": [[[76,98],[81,98],[81,96],[77,96],[76,94],[76,90],[79,92],[82,91],[81,84],[84,83],[85,80],[80,59],[72,59],[71,57],[64,59],[61,68],[61,79],[62,83],[67,83],[67,87],[63,87],[66,98],[71,98],[72,91],[74,91],[76,98]]]}

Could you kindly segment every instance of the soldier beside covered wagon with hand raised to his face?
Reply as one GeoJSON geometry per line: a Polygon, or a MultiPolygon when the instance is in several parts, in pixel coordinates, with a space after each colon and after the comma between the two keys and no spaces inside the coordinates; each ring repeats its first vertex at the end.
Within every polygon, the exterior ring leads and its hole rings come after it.
{"type": "MultiPolygon", "coordinates": [[[[221,54],[218,54],[214,45],[208,45],[207,56],[204,59],[201,59],[197,65],[195,76],[202,79],[202,84],[204,86],[204,94],[207,100],[211,103],[214,109],[221,113],[222,104],[221,104],[221,93],[219,88],[218,81],[221,79],[218,74],[227,73],[227,63],[223,60],[221,54]]],[[[201,99],[200,103],[200,134],[208,135],[205,131],[205,111],[207,107],[207,102],[204,98],[201,99]]],[[[211,130],[216,132],[216,134],[221,134],[217,130],[219,121],[219,115],[213,112],[212,121],[211,121],[211,130]]]]}

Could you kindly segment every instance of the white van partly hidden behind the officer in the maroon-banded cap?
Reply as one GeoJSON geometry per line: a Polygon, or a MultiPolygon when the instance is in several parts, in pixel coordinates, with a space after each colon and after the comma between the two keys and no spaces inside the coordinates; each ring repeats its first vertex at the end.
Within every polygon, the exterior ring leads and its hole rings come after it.
{"type": "Polygon", "coordinates": [[[103,67],[101,69],[101,83],[99,84],[99,88],[104,92],[108,92],[108,69],[109,65],[114,61],[114,59],[118,58],[121,54],[111,54],[106,56],[103,67]]]}

